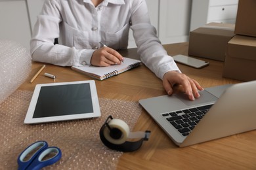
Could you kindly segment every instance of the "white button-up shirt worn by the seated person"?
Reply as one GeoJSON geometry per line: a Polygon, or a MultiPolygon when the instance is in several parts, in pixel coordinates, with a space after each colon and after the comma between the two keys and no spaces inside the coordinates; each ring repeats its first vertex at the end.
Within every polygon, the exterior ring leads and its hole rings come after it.
{"type": "Polygon", "coordinates": [[[141,61],[159,78],[179,71],[150,24],[144,0],[45,0],[30,42],[33,61],[61,66],[89,65],[103,42],[115,50],[128,46],[129,29],[141,61]],[[58,38],[59,44],[54,45],[58,38]]]}

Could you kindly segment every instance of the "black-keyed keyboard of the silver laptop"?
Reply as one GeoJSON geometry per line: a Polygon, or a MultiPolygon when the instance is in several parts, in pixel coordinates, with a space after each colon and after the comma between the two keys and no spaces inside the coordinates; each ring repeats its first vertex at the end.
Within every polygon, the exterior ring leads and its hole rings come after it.
{"type": "Polygon", "coordinates": [[[203,118],[212,105],[161,114],[183,136],[187,136],[203,118]]]}

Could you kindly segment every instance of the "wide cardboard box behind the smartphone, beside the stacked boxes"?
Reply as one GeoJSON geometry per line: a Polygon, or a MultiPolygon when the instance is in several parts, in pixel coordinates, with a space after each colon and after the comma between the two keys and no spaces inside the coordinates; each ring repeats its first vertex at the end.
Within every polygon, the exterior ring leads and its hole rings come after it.
{"type": "Polygon", "coordinates": [[[234,24],[209,23],[190,32],[188,55],[224,61],[234,24]]]}

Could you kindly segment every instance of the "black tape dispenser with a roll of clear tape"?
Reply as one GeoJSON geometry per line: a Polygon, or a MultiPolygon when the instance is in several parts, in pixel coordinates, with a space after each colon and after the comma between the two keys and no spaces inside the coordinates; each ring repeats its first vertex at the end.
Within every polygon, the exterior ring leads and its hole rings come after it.
{"type": "Polygon", "coordinates": [[[108,148],[121,152],[138,150],[143,141],[148,141],[150,131],[130,132],[129,126],[120,119],[108,116],[106,122],[100,128],[100,139],[108,148]],[[139,141],[127,140],[139,139],[139,141]]]}

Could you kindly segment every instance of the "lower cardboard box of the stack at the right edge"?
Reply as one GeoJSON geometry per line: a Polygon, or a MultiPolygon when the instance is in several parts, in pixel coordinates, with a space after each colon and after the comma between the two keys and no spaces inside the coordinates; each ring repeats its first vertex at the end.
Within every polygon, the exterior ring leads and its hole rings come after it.
{"type": "Polygon", "coordinates": [[[256,80],[256,37],[236,35],[228,42],[223,76],[256,80]]]}

